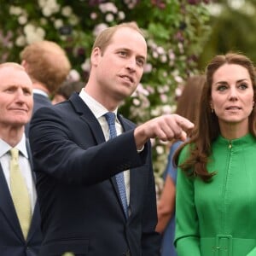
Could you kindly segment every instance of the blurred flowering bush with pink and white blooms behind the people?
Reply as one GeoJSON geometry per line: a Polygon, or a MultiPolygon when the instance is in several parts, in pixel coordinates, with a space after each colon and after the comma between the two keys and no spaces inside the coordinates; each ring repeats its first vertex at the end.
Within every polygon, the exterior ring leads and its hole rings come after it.
{"type": "MultiPolygon", "coordinates": [[[[102,29],[135,20],[146,33],[148,64],[137,91],[120,107],[137,124],[175,110],[175,89],[197,73],[196,60],[209,32],[209,0],[9,0],[0,9],[0,62],[19,62],[26,44],[47,39],[67,51],[83,79],[90,49],[102,29]]],[[[156,183],[162,184],[165,143],[153,140],[156,183]]]]}

